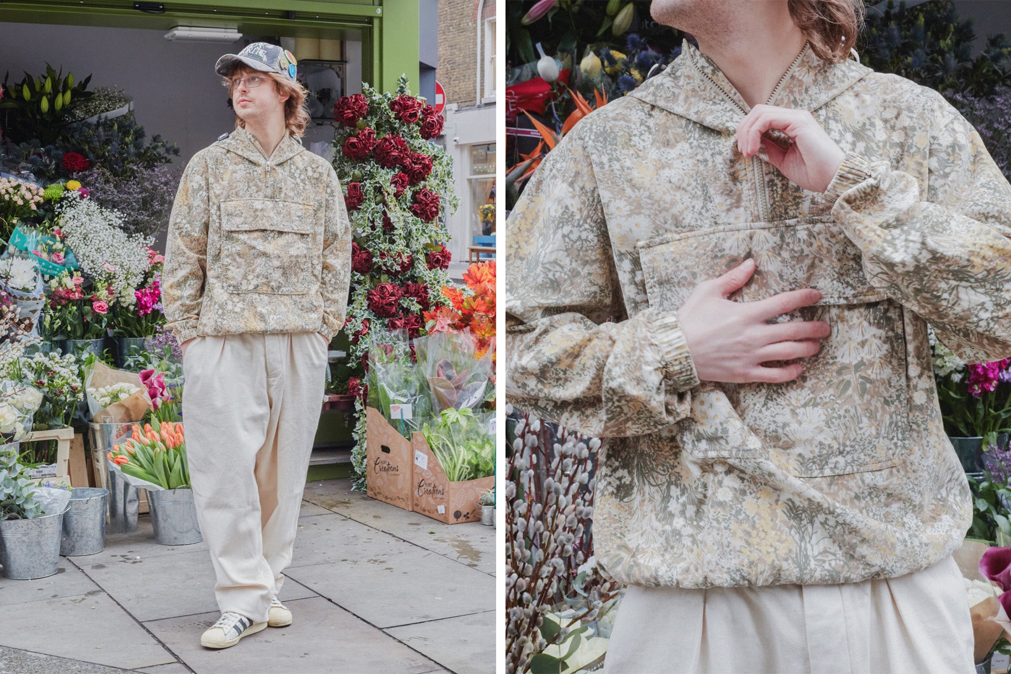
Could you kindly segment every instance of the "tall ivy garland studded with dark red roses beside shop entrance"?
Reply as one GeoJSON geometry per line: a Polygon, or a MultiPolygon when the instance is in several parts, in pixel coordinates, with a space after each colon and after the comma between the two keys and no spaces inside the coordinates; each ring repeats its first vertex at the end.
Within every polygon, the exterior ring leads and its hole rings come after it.
{"type": "Polygon", "coordinates": [[[445,247],[450,236],[439,215],[452,214],[459,204],[453,160],[430,141],[442,132],[442,115],[410,95],[402,75],[395,95],[367,84],[362,90],[334,105],[341,122],[334,169],[344,187],[354,242],[344,331],[355,363],[349,392],[358,394],[351,453],[357,490],[365,489],[366,391],[361,382],[369,331],[406,329],[409,338],[421,336],[426,333],[422,312],[449,305],[441,290],[451,285],[445,247]]]}

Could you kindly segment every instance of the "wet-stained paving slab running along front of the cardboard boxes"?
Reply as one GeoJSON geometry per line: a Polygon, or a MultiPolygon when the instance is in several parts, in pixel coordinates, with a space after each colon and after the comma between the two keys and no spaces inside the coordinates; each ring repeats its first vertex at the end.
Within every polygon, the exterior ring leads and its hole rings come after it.
{"type": "Polygon", "coordinates": [[[492,575],[495,572],[493,526],[479,522],[446,524],[420,512],[371,498],[365,492],[352,491],[350,480],[311,482],[305,486],[304,498],[316,506],[392,534],[466,566],[492,575]]]}

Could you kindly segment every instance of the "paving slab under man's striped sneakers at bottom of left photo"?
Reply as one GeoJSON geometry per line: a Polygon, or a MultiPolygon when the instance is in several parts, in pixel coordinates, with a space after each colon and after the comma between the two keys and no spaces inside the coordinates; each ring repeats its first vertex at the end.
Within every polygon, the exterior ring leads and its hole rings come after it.
{"type": "MultiPolygon", "coordinates": [[[[146,622],[197,674],[422,674],[440,665],[323,597],[287,602],[294,622],[267,628],[228,649],[200,646],[214,613],[146,622]]],[[[157,671],[157,670],[156,670],[157,671]]]]}

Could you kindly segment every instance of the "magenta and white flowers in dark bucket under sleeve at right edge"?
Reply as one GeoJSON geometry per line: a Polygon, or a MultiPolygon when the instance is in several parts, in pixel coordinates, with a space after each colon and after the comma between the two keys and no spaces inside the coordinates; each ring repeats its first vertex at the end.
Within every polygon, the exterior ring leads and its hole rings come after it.
{"type": "MultiPolygon", "coordinates": [[[[967,473],[1004,473],[1011,432],[1011,359],[967,365],[929,331],[944,431],[967,473]]],[[[1011,457],[1007,457],[1011,459],[1011,457]]]]}

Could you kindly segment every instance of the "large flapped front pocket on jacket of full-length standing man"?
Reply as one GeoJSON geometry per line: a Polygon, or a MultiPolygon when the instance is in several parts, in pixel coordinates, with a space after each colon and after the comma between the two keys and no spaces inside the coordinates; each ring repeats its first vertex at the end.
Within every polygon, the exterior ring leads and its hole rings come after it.
{"type": "Polygon", "coordinates": [[[221,202],[218,273],[234,293],[302,295],[318,284],[323,245],[310,204],[277,199],[221,202]]]}

